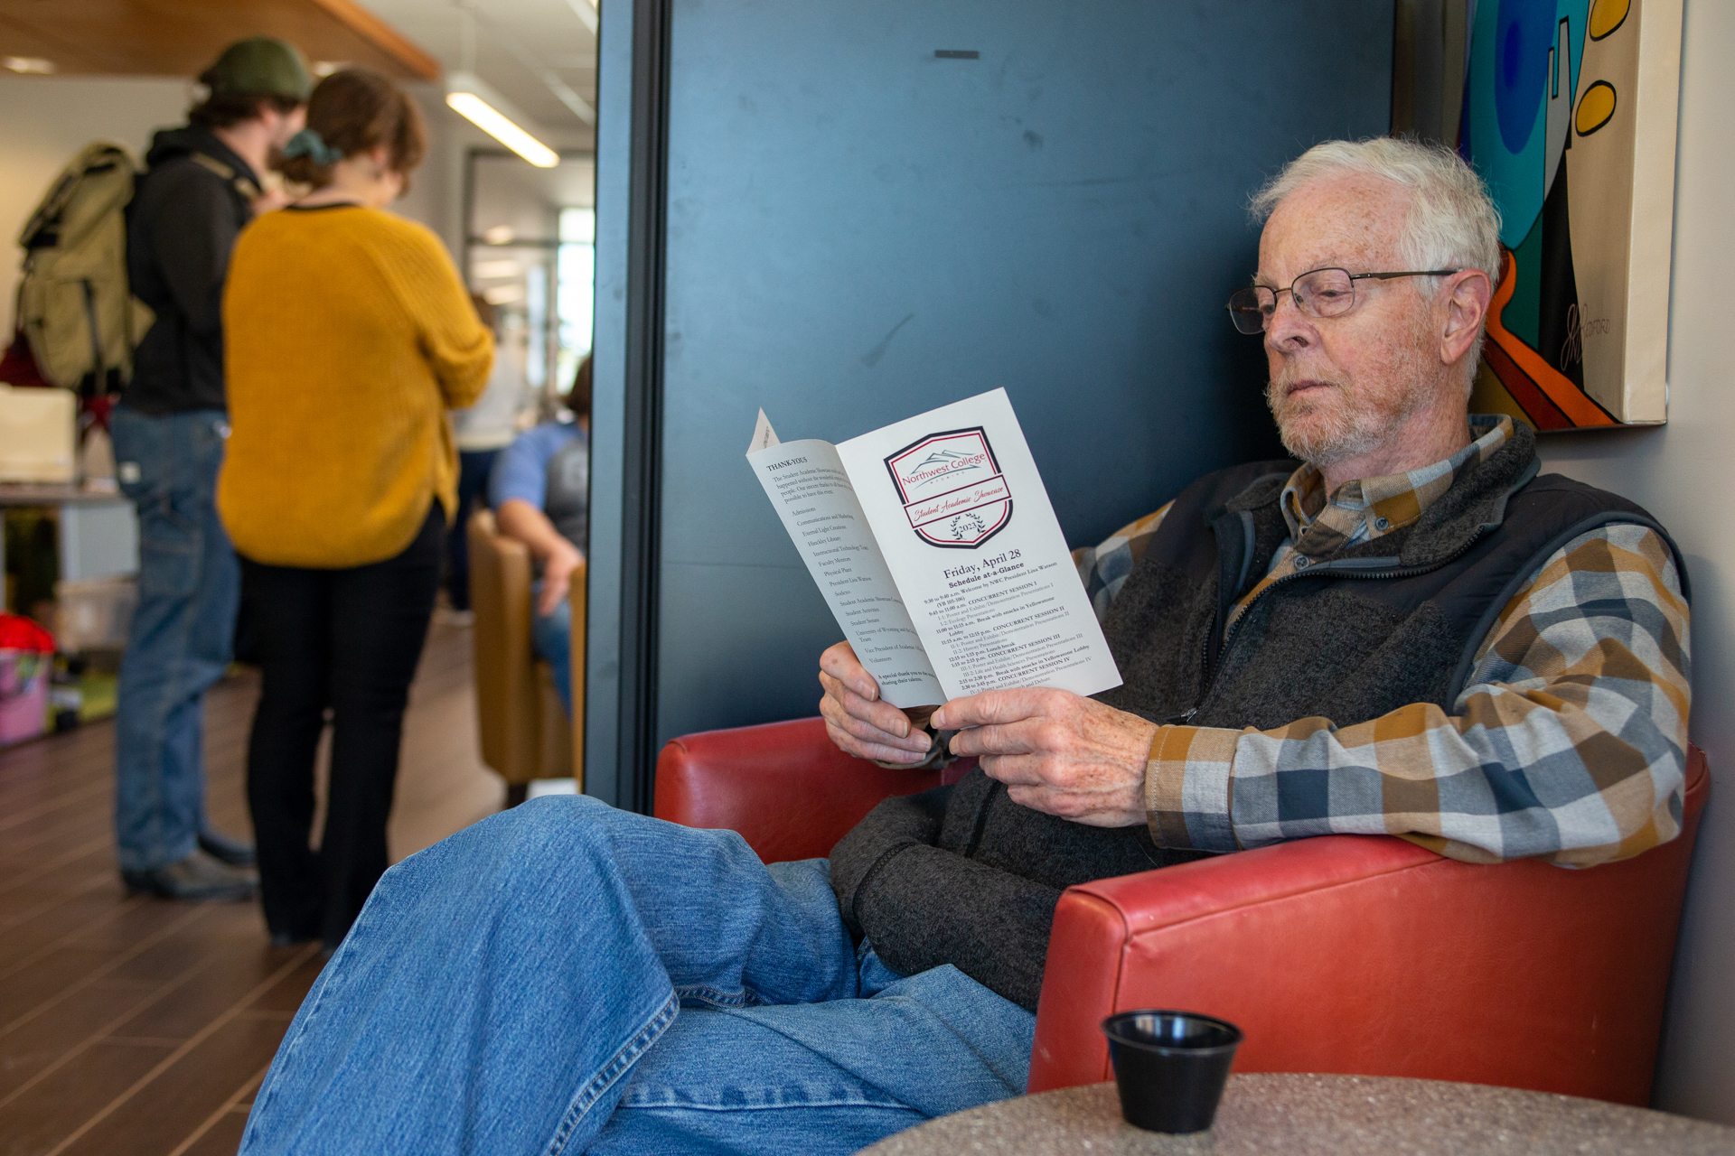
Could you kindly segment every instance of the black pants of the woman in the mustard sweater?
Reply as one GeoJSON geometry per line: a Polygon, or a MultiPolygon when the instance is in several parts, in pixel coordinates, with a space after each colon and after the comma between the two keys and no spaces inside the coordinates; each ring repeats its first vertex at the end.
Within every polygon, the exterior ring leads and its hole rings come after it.
{"type": "Polygon", "coordinates": [[[349,570],[241,560],[264,686],[246,750],[265,924],[297,939],[344,939],[385,872],[397,747],[409,681],[439,589],[444,510],[409,548],[349,570]],[[331,711],[331,783],[319,851],[314,756],[331,711]]]}

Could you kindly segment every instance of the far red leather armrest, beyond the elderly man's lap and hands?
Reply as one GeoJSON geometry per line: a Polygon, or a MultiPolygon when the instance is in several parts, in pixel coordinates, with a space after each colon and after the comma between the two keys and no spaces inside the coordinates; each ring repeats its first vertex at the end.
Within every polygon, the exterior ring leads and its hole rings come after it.
{"type": "MultiPolygon", "coordinates": [[[[954,764],[956,766],[956,764],[954,764]]],[[[767,863],[831,853],[881,799],[940,785],[838,750],[824,719],[684,735],[656,764],[656,816],[741,832],[767,863]]]]}

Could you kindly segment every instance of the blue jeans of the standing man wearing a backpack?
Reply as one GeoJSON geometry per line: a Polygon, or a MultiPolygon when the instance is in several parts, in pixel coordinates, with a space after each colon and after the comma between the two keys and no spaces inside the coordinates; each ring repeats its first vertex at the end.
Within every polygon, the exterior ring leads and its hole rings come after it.
{"type": "Polygon", "coordinates": [[[217,518],[222,411],[109,419],[121,490],[139,510],[139,608],[115,716],[115,837],[121,870],[198,846],[205,816],[205,690],[234,645],[241,572],[217,518]]]}

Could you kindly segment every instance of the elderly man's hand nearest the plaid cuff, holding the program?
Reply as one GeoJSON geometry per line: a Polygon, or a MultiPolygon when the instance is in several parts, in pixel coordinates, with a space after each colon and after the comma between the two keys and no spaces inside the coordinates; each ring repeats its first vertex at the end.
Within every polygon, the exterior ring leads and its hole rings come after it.
{"type": "Polygon", "coordinates": [[[956,730],[953,752],[982,756],[982,773],[1020,806],[1090,827],[1145,822],[1157,724],[1136,714],[1065,690],[989,690],[953,698],[933,726],[956,730]]]}

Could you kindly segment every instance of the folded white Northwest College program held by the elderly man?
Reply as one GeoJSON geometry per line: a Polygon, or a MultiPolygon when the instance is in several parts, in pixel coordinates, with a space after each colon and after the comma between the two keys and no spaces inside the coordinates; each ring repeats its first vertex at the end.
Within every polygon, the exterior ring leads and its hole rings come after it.
{"type": "Polygon", "coordinates": [[[1121,685],[1006,390],[748,463],[892,705],[1121,685]]]}

